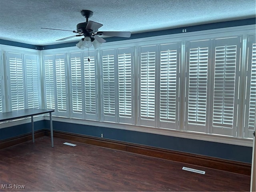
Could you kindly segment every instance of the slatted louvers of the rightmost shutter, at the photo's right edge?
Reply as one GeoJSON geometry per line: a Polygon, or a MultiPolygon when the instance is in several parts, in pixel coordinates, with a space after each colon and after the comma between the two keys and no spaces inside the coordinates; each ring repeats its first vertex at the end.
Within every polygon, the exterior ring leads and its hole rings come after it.
{"type": "Polygon", "coordinates": [[[252,44],[252,68],[250,80],[249,130],[254,130],[256,111],[256,44],[252,44]]]}

